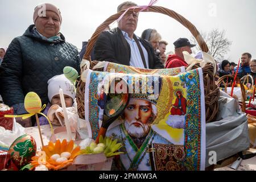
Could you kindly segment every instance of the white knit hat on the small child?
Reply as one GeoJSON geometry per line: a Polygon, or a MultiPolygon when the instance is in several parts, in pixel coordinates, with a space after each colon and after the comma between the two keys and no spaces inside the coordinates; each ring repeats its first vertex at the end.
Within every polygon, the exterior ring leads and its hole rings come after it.
{"type": "Polygon", "coordinates": [[[52,97],[59,94],[60,88],[63,89],[63,94],[72,97],[73,101],[76,97],[75,86],[63,75],[53,76],[48,80],[48,98],[51,102],[52,97]]]}

